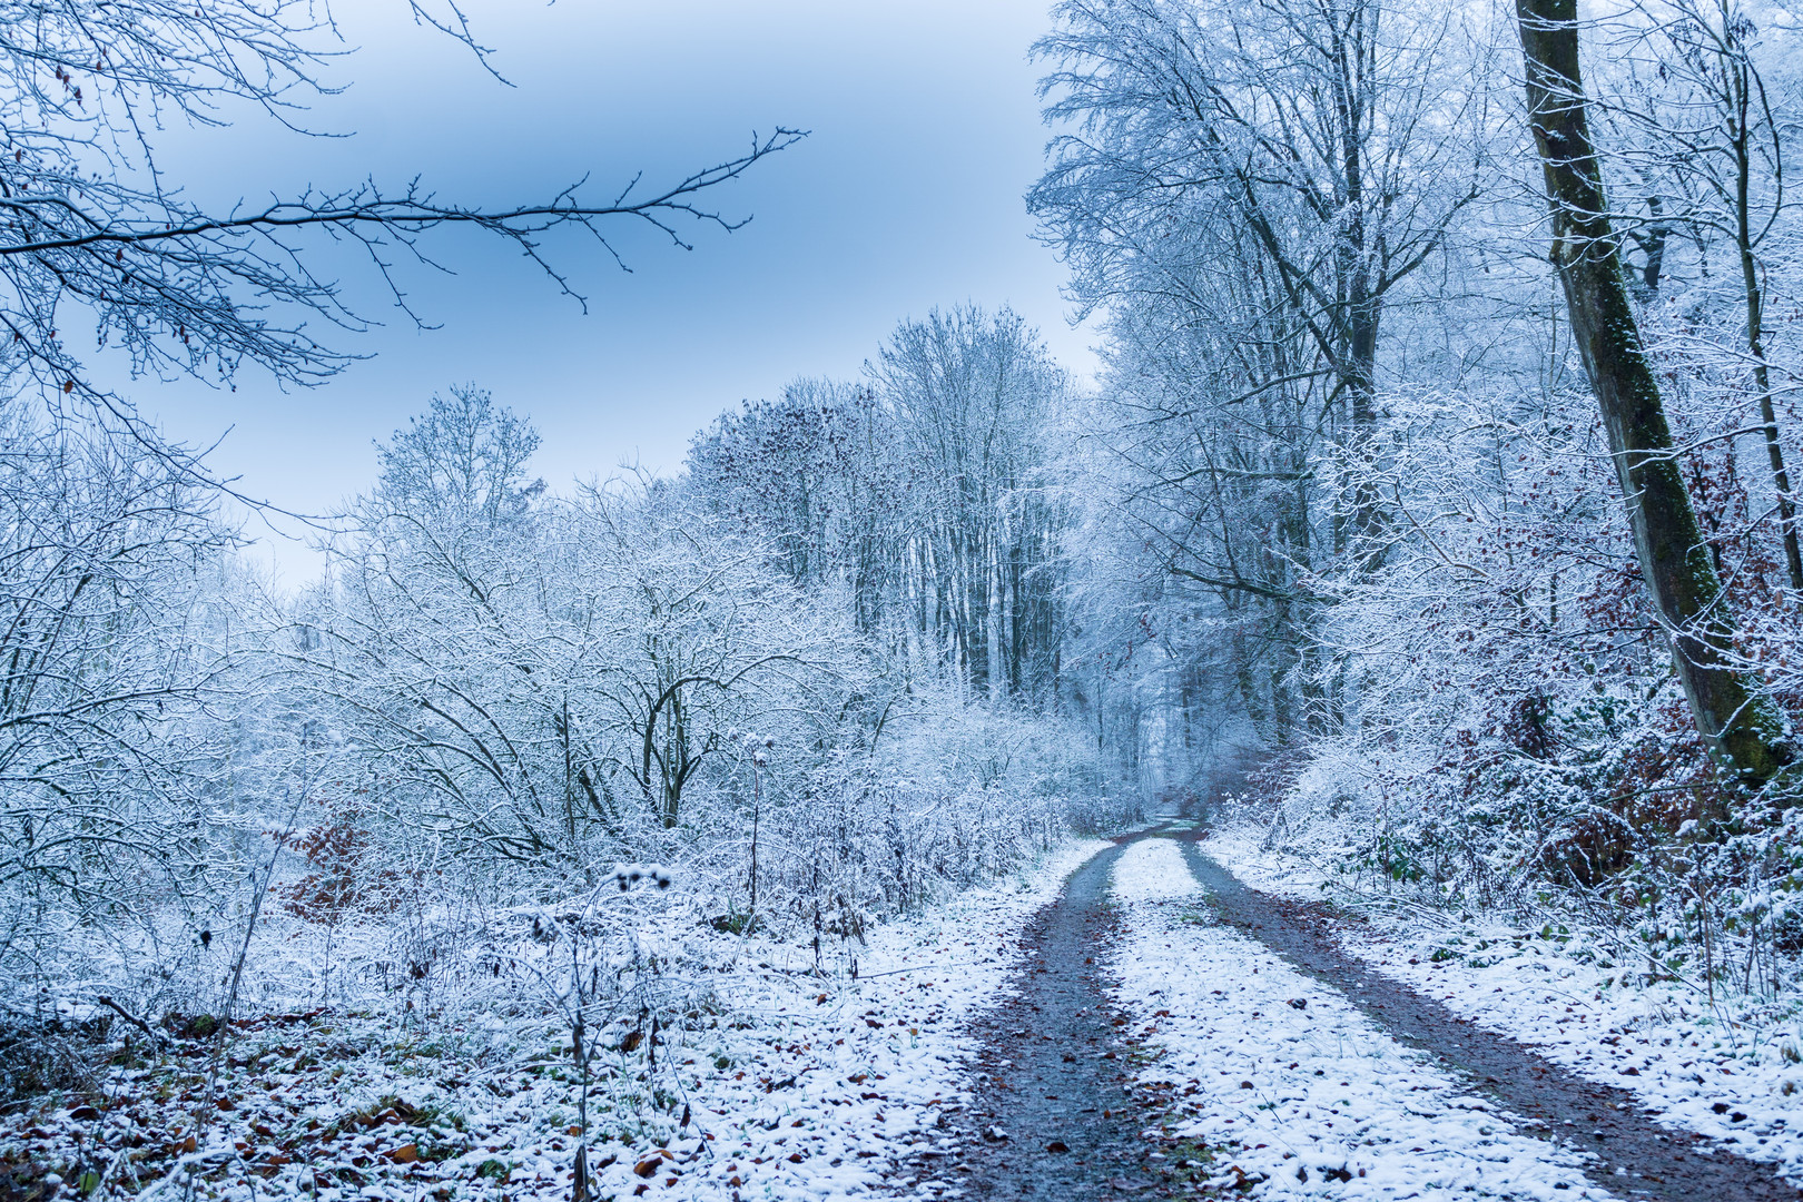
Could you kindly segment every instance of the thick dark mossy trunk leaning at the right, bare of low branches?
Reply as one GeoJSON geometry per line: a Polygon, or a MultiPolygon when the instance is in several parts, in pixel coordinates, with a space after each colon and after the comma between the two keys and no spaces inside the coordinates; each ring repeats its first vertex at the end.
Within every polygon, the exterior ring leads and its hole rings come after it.
{"type": "Polygon", "coordinates": [[[1790,759],[1780,724],[1733,665],[1733,616],[1671,445],[1659,382],[1628,305],[1578,68],[1576,0],[1516,0],[1527,108],[1552,202],[1552,265],[1603,411],[1641,575],[1671,636],[1691,717],[1718,762],[1762,786],[1790,759]]]}

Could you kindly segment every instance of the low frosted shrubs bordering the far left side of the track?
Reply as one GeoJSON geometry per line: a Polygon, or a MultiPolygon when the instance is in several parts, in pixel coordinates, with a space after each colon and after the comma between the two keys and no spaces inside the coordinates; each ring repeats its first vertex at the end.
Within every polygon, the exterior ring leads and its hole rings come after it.
{"type": "Polygon", "coordinates": [[[860,941],[873,923],[1004,876],[1136,795],[1055,717],[916,690],[822,751],[750,739],[682,852],[719,930],[860,941]]]}

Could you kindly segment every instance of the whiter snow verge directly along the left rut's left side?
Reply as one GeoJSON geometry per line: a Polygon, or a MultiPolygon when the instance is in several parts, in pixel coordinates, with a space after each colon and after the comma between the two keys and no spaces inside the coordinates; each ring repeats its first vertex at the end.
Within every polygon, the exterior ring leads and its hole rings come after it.
{"type": "MultiPolygon", "coordinates": [[[[856,980],[748,971],[723,982],[734,1011],[757,1020],[741,1043],[755,1047],[752,1060],[734,1056],[755,1067],[743,1078],[701,1081],[694,1108],[714,1135],[712,1155],[691,1161],[682,1197],[948,1191],[936,1164],[956,1148],[941,1117],[966,1101],[963,1067],[975,1043],[963,1034],[965,1022],[1006,993],[1028,917],[1105,847],[1103,840],[1069,843],[1008,883],[874,928],[856,980]]],[[[600,1197],[615,1189],[629,1197],[636,1184],[622,1161],[602,1179],[600,1197]]]]}

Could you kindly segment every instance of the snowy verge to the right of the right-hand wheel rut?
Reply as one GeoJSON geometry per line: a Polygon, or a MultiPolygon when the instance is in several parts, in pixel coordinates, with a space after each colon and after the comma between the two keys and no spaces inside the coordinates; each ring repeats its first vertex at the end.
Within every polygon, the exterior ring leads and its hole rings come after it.
{"type": "MultiPolygon", "coordinates": [[[[1803,998],[1760,997],[1623,955],[1572,914],[1538,924],[1424,906],[1361,883],[1332,849],[1266,851],[1231,827],[1206,851],[1246,885],[1331,901],[1341,946],[1453,1013],[1639,1096],[1675,1128],[1722,1139],[1803,1180],[1803,998]]],[[[1343,851],[1343,849],[1341,849],[1343,851]]]]}

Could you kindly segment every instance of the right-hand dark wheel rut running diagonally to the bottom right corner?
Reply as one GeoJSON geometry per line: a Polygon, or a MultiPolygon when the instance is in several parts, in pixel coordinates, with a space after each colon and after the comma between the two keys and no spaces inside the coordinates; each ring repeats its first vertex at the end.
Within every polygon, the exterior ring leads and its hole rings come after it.
{"type": "Polygon", "coordinates": [[[1201,831],[1170,831],[1221,921],[1334,986],[1403,1043],[1441,1061],[1525,1121],[1524,1134],[1579,1148],[1597,1161],[1587,1177],[1623,1198],[1671,1202],[1798,1202],[1776,1170],[1715,1141],[1659,1126],[1634,1094],[1597,1085],[1487,1033],[1432,998],[1340,950],[1318,908],[1246,888],[1197,847],[1201,831]]]}

